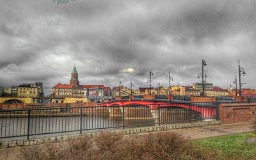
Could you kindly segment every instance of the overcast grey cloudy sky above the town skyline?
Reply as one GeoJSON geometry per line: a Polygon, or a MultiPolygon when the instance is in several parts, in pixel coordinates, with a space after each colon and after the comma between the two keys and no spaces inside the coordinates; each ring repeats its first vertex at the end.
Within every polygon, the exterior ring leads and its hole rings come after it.
{"type": "Polygon", "coordinates": [[[256,88],[256,1],[1,0],[0,85],[44,82],[168,86],[207,81],[227,88],[238,74],[256,88]]]}

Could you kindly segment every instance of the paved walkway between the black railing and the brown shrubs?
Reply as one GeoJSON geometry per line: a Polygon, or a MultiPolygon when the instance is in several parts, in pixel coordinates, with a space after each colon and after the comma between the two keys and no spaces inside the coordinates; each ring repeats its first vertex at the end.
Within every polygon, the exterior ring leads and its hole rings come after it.
{"type": "MultiPolygon", "coordinates": [[[[252,132],[250,123],[236,123],[236,124],[222,124],[215,126],[203,126],[203,127],[191,127],[186,129],[175,129],[170,131],[176,131],[182,133],[184,136],[189,137],[191,139],[199,139],[199,138],[208,138],[212,136],[223,136],[223,135],[233,135],[237,133],[246,133],[252,132]]],[[[139,135],[148,134],[141,133],[139,135]]],[[[138,136],[138,135],[130,135],[130,136],[138,136]]],[[[0,150],[0,159],[19,159],[17,155],[19,155],[20,147],[1,149],[0,150]]]]}

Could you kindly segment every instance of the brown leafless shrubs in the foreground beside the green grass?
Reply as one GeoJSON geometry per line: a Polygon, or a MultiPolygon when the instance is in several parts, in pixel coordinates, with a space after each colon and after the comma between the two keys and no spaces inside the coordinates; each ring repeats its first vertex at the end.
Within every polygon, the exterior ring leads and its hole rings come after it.
{"type": "MultiPolygon", "coordinates": [[[[218,155],[217,155],[218,156],[218,155]]],[[[100,133],[61,144],[24,147],[21,159],[214,159],[215,152],[198,148],[179,133],[140,136],[100,133]]]]}

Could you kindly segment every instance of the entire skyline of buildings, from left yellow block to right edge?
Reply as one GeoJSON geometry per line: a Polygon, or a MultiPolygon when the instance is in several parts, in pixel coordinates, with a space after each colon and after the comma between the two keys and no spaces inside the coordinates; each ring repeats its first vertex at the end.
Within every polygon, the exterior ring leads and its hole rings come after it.
{"type": "MultiPolygon", "coordinates": [[[[202,83],[182,86],[173,85],[170,87],[159,86],[154,87],[140,87],[138,89],[129,89],[120,85],[118,87],[106,87],[102,84],[84,85],[79,84],[78,73],[76,66],[74,66],[69,84],[58,83],[52,87],[52,98],[88,98],[89,100],[110,99],[116,96],[133,95],[167,95],[173,96],[202,96],[202,83]]],[[[15,87],[8,87],[3,89],[0,87],[0,95],[17,96],[17,97],[31,97],[37,98],[44,96],[42,82],[35,82],[35,84],[20,84],[15,87]]],[[[256,96],[256,91],[252,89],[243,89],[244,96],[256,96]]],[[[214,86],[211,83],[205,83],[205,96],[219,97],[219,96],[236,96],[236,91],[232,89],[221,89],[221,87],[214,86]]]]}

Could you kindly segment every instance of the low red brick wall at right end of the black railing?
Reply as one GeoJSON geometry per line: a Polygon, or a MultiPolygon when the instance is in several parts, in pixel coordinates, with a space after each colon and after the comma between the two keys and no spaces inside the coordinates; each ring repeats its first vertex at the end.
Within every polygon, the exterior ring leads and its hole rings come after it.
{"type": "Polygon", "coordinates": [[[256,102],[220,103],[219,117],[223,124],[255,120],[256,102]]]}

